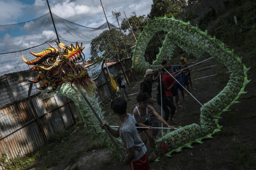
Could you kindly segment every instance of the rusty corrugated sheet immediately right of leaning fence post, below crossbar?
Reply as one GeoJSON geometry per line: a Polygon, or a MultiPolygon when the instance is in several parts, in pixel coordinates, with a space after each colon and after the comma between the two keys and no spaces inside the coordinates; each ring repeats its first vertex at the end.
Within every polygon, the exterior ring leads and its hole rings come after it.
{"type": "Polygon", "coordinates": [[[58,109],[40,117],[39,121],[43,126],[47,140],[49,140],[50,135],[65,130],[65,126],[58,109]]]}

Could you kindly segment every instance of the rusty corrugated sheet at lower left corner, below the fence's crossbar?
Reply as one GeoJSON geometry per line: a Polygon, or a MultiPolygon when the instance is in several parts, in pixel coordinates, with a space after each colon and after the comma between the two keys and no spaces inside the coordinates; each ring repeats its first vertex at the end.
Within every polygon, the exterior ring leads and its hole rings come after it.
{"type": "Polygon", "coordinates": [[[8,146],[8,158],[17,157],[19,150],[20,156],[25,156],[45,145],[43,135],[36,122],[28,124],[24,128],[7,136],[2,141],[8,146]]]}

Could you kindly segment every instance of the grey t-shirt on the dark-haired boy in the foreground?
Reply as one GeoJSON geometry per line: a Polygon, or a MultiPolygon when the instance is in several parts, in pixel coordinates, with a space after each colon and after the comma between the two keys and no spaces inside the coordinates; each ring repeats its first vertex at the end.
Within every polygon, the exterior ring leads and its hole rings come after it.
{"type": "Polygon", "coordinates": [[[135,156],[132,162],[135,162],[146,154],[147,148],[146,145],[141,141],[132,115],[127,114],[127,116],[128,118],[124,121],[122,125],[120,122],[119,134],[122,140],[123,149],[126,154],[128,153],[129,148],[134,147],[135,156]]]}

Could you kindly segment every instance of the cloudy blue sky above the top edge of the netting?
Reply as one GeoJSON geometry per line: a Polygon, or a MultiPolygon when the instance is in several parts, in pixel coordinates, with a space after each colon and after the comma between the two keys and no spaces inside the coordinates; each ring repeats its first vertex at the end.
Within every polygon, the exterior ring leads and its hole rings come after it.
{"type": "MultiPolygon", "coordinates": [[[[100,0],[49,0],[52,13],[87,27],[98,27],[105,20],[100,0]]],[[[129,18],[133,11],[137,15],[150,12],[152,0],[102,0],[109,22],[117,25],[112,11],[121,12],[120,21],[129,18]]],[[[38,18],[49,12],[46,0],[0,0],[0,25],[20,23],[38,18]]]]}

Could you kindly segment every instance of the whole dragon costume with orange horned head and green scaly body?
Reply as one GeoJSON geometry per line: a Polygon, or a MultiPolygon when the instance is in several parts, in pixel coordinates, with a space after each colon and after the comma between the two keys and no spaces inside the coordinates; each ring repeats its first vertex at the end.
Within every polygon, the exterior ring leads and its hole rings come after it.
{"type": "MultiPolygon", "coordinates": [[[[212,135],[220,131],[221,126],[218,124],[220,115],[224,111],[228,111],[232,104],[237,103],[238,97],[244,94],[245,86],[250,82],[247,79],[247,69],[233,50],[225,47],[223,42],[220,42],[215,37],[207,35],[207,31],[203,32],[198,28],[180,20],[172,18],[156,18],[148,22],[140,34],[134,49],[132,58],[133,68],[136,70],[145,70],[151,68],[151,65],[145,61],[143,55],[148,42],[153,35],[159,31],[166,32],[165,41],[163,42],[165,50],[169,56],[172,56],[172,51],[175,46],[178,46],[194,55],[199,55],[202,52],[207,52],[214,59],[224,64],[232,73],[227,86],[212,100],[204,103],[200,108],[200,124],[191,124],[185,127],[179,127],[177,130],[169,132],[156,140],[154,155],[171,156],[172,152],[180,152],[182,148],[191,146],[192,143],[203,143],[204,138],[212,138],[212,135]]],[[[94,138],[98,138],[102,144],[107,145],[111,152],[117,152],[116,147],[104,130],[98,125],[98,120],[92,114],[90,108],[81,100],[81,96],[77,93],[73,83],[78,83],[82,88],[85,96],[89,96],[89,101],[94,107],[98,116],[103,120],[105,113],[101,110],[98,98],[95,97],[95,82],[88,75],[87,70],[82,68],[77,62],[82,60],[82,44],[79,47],[76,43],[76,48],[65,46],[63,43],[57,43],[58,48],[51,48],[40,53],[32,53],[37,58],[32,61],[27,61],[23,55],[23,60],[29,65],[36,65],[31,69],[38,73],[32,83],[40,82],[39,89],[47,90],[48,93],[60,93],[71,98],[79,108],[85,128],[94,138]]],[[[159,64],[165,58],[163,53],[164,47],[160,48],[160,53],[153,64],[159,64]]],[[[106,121],[104,121],[106,122],[106,121]]],[[[107,123],[107,122],[106,122],[107,123]]],[[[120,138],[115,139],[116,143],[122,148],[120,138]]],[[[121,156],[120,156],[121,158],[121,156]]],[[[156,159],[156,161],[159,160],[156,159]]]]}

